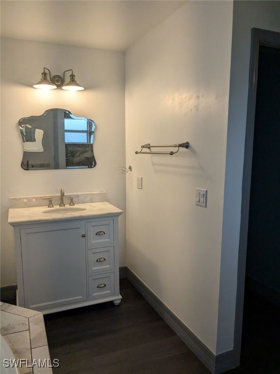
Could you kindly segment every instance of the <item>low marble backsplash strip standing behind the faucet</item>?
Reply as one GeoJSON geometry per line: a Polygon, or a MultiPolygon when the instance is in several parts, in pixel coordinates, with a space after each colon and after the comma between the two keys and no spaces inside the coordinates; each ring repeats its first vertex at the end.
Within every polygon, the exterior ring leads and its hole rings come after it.
{"type": "MultiPolygon", "coordinates": [[[[107,194],[104,191],[101,192],[73,192],[66,193],[64,197],[65,205],[70,204],[70,196],[79,195],[79,197],[74,198],[75,204],[82,203],[98,203],[107,200],[107,194]]],[[[9,206],[10,208],[27,208],[32,206],[48,206],[49,201],[43,198],[51,197],[53,200],[53,205],[59,205],[60,194],[50,194],[50,195],[38,195],[38,196],[20,196],[20,197],[10,197],[9,206]]]]}

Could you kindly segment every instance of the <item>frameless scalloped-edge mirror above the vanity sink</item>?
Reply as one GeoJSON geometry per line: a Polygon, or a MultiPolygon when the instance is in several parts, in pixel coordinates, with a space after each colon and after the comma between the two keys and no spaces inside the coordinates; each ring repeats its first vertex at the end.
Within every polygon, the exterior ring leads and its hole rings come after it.
{"type": "Polygon", "coordinates": [[[65,109],[20,118],[24,170],[94,168],[95,123],[65,109]]]}

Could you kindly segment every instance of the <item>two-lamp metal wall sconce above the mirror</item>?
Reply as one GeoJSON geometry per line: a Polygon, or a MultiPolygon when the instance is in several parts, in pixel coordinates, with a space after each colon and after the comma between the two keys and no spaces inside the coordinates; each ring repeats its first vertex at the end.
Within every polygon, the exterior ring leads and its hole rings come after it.
{"type": "Polygon", "coordinates": [[[51,75],[51,72],[48,68],[44,68],[44,71],[42,72],[42,78],[39,82],[37,82],[34,86],[34,88],[39,88],[41,90],[53,90],[55,88],[61,87],[63,90],[67,91],[82,91],[84,90],[84,87],[82,87],[79,83],[76,81],[76,77],[73,74],[73,70],[65,70],[63,73],[63,78],[60,75],[51,75]],[[50,79],[48,78],[48,73],[46,72],[48,70],[50,79]],[[70,81],[63,86],[65,83],[65,73],[66,72],[72,72],[70,74],[70,81]]]}

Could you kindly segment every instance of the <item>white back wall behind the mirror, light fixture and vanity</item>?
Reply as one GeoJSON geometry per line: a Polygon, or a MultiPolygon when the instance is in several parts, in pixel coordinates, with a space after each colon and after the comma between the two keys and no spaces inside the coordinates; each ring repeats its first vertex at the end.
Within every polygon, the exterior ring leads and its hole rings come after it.
{"type": "MultiPolygon", "coordinates": [[[[125,208],[124,54],[59,44],[1,39],[1,286],[16,284],[13,229],[8,225],[8,198],[107,191],[108,201],[125,208]],[[86,90],[44,92],[32,87],[43,67],[62,75],[73,69],[86,90]],[[93,169],[25,171],[20,167],[21,117],[63,108],[93,119],[97,130],[93,169]]],[[[125,264],[125,217],[120,217],[120,264],[125,264]]]]}

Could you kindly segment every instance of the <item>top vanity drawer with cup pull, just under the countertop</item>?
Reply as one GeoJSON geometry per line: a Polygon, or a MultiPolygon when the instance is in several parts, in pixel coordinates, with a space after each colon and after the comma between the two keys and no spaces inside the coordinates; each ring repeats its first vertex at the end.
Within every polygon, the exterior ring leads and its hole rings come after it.
{"type": "Polygon", "coordinates": [[[112,220],[88,222],[88,249],[114,244],[112,220]]]}

